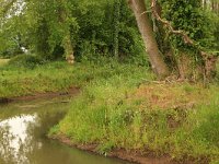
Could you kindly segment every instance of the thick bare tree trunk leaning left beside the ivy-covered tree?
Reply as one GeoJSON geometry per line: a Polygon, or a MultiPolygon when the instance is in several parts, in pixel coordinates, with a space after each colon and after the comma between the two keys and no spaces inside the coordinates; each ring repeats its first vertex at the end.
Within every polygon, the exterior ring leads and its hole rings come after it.
{"type": "Polygon", "coordinates": [[[128,0],[128,3],[136,16],[138,28],[147,47],[147,52],[149,55],[149,60],[152,66],[153,71],[159,78],[165,78],[170,74],[169,68],[165,65],[161,52],[158,48],[158,43],[153,35],[153,30],[151,22],[146,13],[145,0],[128,0]]]}

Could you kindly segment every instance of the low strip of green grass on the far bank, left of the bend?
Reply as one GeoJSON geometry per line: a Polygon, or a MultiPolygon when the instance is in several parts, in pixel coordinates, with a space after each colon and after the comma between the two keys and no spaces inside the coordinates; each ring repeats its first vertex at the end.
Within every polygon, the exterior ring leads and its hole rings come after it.
{"type": "Polygon", "coordinates": [[[94,65],[76,63],[72,67],[65,61],[45,63],[33,69],[3,66],[0,67],[0,98],[65,92],[72,86],[83,86],[94,77],[111,77],[111,73],[112,70],[99,70],[94,65]]]}

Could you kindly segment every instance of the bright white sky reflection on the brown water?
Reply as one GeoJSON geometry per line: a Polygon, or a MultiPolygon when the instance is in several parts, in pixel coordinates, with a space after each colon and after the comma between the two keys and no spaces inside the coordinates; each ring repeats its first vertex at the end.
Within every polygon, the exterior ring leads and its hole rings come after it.
{"type": "MultiPolygon", "coordinates": [[[[31,140],[33,136],[28,133],[28,125],[33,125],[37,115],[22,115],[12,117],[0,122],[0,154],[5,163],[28,164],[26,152],[33,150],[31,140]]],[[[34,124],[37,126],[37,124],[34,124]]],[[[41,149],[38,142],[38,149],[41,149]]]]}

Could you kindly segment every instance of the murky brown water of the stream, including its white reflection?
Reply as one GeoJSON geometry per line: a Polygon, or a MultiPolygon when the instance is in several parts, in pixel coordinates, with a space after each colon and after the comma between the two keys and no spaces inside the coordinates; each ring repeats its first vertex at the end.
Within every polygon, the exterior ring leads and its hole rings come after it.
{"type": "Polygon", "coordinates": [[[0,164],[127,164],[46,138],[69,108],[69,98],[0,105],[0,164]]]}

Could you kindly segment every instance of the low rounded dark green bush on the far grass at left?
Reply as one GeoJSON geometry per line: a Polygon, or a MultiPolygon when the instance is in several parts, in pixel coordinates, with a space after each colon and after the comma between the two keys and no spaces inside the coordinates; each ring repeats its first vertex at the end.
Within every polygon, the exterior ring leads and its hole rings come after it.
{"type": "Polygon", "coordinates": [[[21,68],[23,67],[28,69],[34,69],[35,67],[43,63],[45,63],[45,60],[35,55],[20,55],[9,61],[9,66],[21,68]]]}

